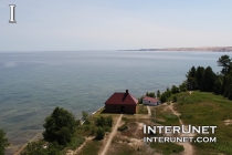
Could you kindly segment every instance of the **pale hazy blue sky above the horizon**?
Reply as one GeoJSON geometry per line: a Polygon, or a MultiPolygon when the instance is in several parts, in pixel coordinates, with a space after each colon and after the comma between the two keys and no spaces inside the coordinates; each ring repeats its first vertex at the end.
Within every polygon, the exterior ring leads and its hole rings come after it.
{"type": "Polygon", "coordinates": [[[0,51],[232,46],[231,0],[0,0],[0,51]],[[15,21],[9,23],[15,4],[15,21]]]}

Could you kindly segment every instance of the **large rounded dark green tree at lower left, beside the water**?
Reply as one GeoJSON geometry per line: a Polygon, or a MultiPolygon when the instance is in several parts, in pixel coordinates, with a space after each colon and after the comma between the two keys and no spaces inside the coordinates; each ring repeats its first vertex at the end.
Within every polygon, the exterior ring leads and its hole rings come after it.
{"type": "Polygon", "coordinates": [[[45,118],[43,127],[45,128],[43,132],[45,141],[65,145],[71,142],[76,128],[76,121],[68,111],[55,107],[53,113],[45,118]]]}

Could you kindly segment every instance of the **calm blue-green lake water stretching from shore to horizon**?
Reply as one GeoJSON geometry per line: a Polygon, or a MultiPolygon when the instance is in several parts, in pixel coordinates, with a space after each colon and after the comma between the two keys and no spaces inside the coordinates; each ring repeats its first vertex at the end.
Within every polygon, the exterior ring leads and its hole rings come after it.
{"type": "MultiPolygon", "coordinates": [[[[43,130],[55,106],[81,117],[93,113],[114,92],[136,97],[179,85],[192,65],[211,65],[221,52],[77,51],[1,52],[0,128],[12,144],[22,144],[43,130]]],[[[20,145],[12,149],[17,149],[20,145]]]]}

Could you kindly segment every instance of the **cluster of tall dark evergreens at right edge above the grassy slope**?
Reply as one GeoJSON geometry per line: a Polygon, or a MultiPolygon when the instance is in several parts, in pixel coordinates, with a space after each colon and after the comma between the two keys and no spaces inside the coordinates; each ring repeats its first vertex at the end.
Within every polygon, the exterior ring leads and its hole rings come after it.
{"type": "Polygon", "coordinates": [[[232,59],[222,55],[217,63],[222,66],[220,73],[214,73],[211,66],[192,66],[186,75],[188,90],[213,92],[232,100],[232,59]]]}

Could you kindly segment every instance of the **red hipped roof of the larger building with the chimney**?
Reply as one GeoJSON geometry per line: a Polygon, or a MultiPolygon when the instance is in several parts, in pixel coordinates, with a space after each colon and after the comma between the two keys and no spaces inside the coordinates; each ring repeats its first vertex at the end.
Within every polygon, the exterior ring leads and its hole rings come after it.
{"type": "Polygon", "coordinates": [[[114,93],[105,104],[137,104],[138,100],[129,93],[114,93]]]}

